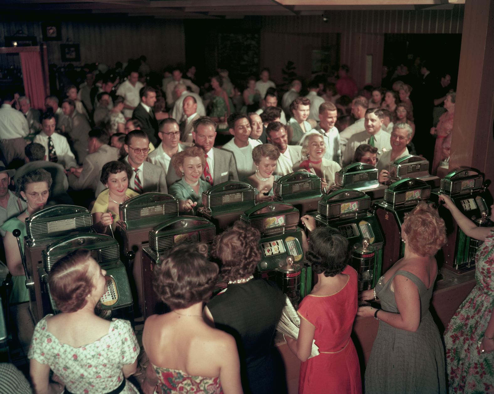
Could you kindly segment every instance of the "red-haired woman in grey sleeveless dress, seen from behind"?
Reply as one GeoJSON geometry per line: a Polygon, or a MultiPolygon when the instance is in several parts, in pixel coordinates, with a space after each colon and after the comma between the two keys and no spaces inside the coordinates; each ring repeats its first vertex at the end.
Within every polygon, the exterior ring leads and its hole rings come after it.
{"type": "Polygon", "coordinates": [[[446,393],[444,348],[429,310],[437,275],[434,255],[446,243],[437,210],[420,203],[402,225],[405,256],[361,299],[381,300],[381,309],[357,314],[379,320],[366,368],[366,393],[446,393]]]}

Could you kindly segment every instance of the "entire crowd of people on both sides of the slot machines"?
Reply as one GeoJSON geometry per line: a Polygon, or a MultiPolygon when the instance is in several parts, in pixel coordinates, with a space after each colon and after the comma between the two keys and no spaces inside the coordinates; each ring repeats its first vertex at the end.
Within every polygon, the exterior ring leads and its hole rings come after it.
{"type": "MultiPolygon", "coordinates": [[[[389,164],[411,153],[427,158],[433,173],[447,166],[455,93],[448,89],[451,76],[434,79],[425,61],[414,79],[401,65],[381,87],[362,89],[342,65],[337,79],[311,81],[306,96],[301,80],[281,94],[268,69],[242,89],[226,70],[203,85],[195,67],[170,68],[153,87],[146,59],[135,65],[88,69],[79,87],[67,74],[57,85],[63,95],[46,97],[43,113],[26,96],[2,94],[0,257],[13,275],[11,304],[28,301],[13,230],[25,236],[25,220],[47,205],[88,208],[95,231],[112,234],[119,205],[144,192],[171,194],[180,213],[194,215],[203,192],[228,180],[252,185],[262,203],[273,200],[274,182],[294,171],[317,175],[327,193],[335,173],[353,162],[375,166],[382,183],[389,181],[389,164]]],[[[429,312],[434,255],[446,242],[437,211],[425,205],[412,211],[401,234],[405,257],[360,295],[347,239],[301,218],[310,234],[305,256],[318,281],[299,306],[298,338],[286,338],[302,361],[300,393],[362,393],[363,387],[446,393],[447,381],[451,393],[494,390],[493,229],[476,227],[448,197],[441,199],[465,234],[485,241],[477,255],[479,284],[453,316],[446,350],[429,312]],[[381,308],[358,307],[359,299],[379,299],[381,308]],[[357,315],[380,321],[364,382],[351,338],[357,315]],[[313,341],[320,354],[309,358],[313,341]]],[[[276,284],[253,278],[259,239],[258,230],[236,222],[210,250],[221,268],[209,262],[204,244],[175,247],[161,260],[153,288],[171,312],[145,322],[142,392],[287,391],[273,347],[285,296],[276,284]],[[228,288],[210,299],[218,275],[228,288]]],[[[61,313],[43,317],[35,329],[29,351],[35,392],[138,392],[126,379],[141,351],[132,327],[94,313],[104,274],[84,249],[52,267],[50,294],[61,313]]]]}

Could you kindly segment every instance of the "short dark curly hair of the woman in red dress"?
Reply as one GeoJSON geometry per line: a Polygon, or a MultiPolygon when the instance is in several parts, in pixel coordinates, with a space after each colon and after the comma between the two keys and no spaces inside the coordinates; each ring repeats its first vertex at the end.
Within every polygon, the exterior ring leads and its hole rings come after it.
{"type": "Polygon", "coordinates": [[[341,273],[350,261],[348,239],[332,227],[317,227],[310,232],[309,250],[305,258],[317,274],[334,276],[341,273]]]}

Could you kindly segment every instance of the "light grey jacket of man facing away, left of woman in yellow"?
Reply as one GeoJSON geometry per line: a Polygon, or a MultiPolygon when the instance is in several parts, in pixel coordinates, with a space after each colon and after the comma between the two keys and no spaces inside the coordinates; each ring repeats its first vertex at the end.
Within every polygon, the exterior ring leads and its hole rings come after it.
{"type": "Polygon", "coordinates": [[[111,161],[119,159],[119,150],[109,145],[102,145],[94,152],[87,155],[82,162],[82,173],[79,178],[75,175],[69,176],[69,184],[74,190],[91,189],[96,190],[101,169],[111,161]]]}

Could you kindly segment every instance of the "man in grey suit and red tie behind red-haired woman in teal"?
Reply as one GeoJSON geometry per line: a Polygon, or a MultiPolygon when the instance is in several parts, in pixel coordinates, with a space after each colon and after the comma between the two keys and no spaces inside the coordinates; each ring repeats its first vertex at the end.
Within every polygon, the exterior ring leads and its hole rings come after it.
{"type": "MultiPolygon", "coordinates": [[[[212,185],[217,185],[227,180],[239,180],[237,175],[237,166],[231,152],[214,148],[214,139],[216,138],[216,123],[209,117],[203,116],[194,122],[194,131],[192,136],[196,146],[204,149],[206,153],[206,168],[210,173],[209,178],[212,185]]],[[[202,179],[206,180],[204,169],[202,179]]],[[[174,171],[168,171],[166,182],[172,184],[180,178],[174,171]]]]}

